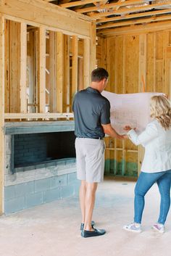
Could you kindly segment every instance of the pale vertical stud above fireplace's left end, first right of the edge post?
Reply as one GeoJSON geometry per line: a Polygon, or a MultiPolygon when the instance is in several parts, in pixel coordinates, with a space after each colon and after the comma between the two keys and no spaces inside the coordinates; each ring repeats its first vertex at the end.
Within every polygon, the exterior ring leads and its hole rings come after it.
{"type": "Polygon", "coordinates": [[[27,113],[27,25],[20,23],[20,112],[27,113]]]}

